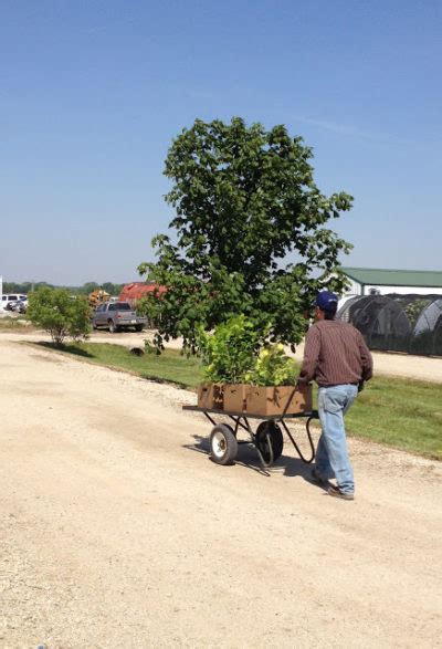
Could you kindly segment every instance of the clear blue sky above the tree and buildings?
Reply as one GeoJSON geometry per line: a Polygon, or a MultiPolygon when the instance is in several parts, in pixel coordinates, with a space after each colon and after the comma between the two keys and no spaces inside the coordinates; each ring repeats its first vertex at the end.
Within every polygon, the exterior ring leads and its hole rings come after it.
{"type": "Polygon", "coordinates": [[[196,117],[315,151],[345,265],[441,270],[439,0],[0,0],[0,274],[137,279],[196,117]]]}

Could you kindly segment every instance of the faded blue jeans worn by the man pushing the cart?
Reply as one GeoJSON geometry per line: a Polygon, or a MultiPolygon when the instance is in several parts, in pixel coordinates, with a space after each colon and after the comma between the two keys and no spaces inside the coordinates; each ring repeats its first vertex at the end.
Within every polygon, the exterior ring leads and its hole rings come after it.
{"type": "Polygon", "coordinates": [[[318,410],[323,433],[316,449],[316,470],[327,480],[336,478],[337,485],[345,493],[355,492],[355,480],[348,458],[344,415],[358,394],[358,387],[350,384],[319,387],[318,410]]]}

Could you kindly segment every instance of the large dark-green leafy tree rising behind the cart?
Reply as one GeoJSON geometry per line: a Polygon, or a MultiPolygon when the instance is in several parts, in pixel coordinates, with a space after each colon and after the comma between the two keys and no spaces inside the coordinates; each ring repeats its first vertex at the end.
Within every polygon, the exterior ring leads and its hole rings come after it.
{"type": "Polygon", "coordinates": [[[312,158],[284,126],[248,127],[239,117],[197,119],[172,142],[165,175],[173,181],[166,196],[173,234],[157,235],[158,260],[138,268],[167,286],[147,301],[159,347],[182,336],[193,349],[198,324],[211,328],[239,313],[262,329],[271,323],[274,339],[301,341],[317,290],[343,286],[338,257],[350,249],[326,224],[352,197],[324,196],[312,158]]]}

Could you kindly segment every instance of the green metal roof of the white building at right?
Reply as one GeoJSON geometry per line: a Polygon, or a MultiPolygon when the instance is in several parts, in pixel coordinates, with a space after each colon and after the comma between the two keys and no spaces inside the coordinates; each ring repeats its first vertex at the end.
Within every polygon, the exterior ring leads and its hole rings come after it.
{"type": "Polygon", "coordinates": [[[442,287],[442,271],[398,271],[343,266],[344,273],[359,284],[379,286],[442,287]]]}

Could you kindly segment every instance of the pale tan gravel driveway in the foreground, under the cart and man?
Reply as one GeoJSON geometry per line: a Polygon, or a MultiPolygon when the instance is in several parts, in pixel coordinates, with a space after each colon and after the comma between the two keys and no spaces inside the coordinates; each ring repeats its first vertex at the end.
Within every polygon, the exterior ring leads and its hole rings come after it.
{"type": "Polygon", "coordinates": [[[351,441],[343,502],[189,392],[4,337],[0,383],[2,648],[442,646],[440,463],[351,441]]]}

